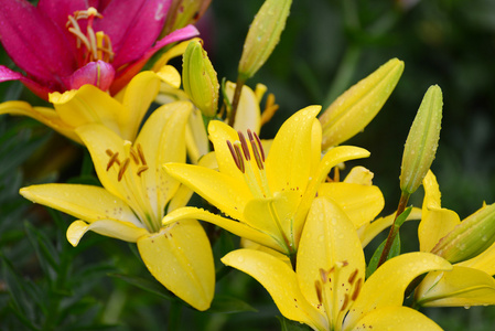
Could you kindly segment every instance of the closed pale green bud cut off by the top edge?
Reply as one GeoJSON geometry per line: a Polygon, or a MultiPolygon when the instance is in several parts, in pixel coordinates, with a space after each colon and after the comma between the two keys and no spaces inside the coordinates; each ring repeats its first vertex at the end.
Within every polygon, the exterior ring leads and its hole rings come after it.
{"type": "Polygon", "coordinates": [[[239,62],[239,78],[246,81],[265,64],[286,28],[292,0],[266,0],[252,21],[239,62]]]}

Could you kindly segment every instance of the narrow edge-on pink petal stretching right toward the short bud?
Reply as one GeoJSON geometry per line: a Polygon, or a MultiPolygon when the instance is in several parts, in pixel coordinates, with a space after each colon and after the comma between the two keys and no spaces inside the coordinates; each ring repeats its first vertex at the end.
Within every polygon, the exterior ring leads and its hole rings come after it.
{"type": "Polygon", "coordinates": [[[174,32],[168,34],[163,39],[157,42],[157,44],[148,50],[144,55],[139,58],[137,62],[128,65],[125,70],[119,71],[117,70],[116,77],[114,83],[110,86],[110,94],[116,95],[123,86],[129,83],[129,81],[139,73],[139,71],[144,66],[144,64],[148,62],[148,60],[153,56],[154,53],[157,53],[161,47],[174,43],[177,41],[183,41],[191,39],[193,36],[198,35],[200,32],[197,31],[194,25],[187,25],[185,28],[175,30],[174,32]]]}

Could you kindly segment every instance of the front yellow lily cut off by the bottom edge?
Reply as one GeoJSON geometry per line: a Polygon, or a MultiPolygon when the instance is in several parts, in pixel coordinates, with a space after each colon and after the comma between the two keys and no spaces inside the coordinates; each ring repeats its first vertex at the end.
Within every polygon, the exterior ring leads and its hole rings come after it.
{"type": "Polygon", "coordinates": [[[441,330],[420,312],[402,307],[411,280],[452,266],[430,253],[386,261],[366,281],[365,257],[353,222],[340,205],[314,199],[302,232],[295,271],[260,250],[238,249],[222,258],[257,279],[288,319],[314,330],[441,330]]]}

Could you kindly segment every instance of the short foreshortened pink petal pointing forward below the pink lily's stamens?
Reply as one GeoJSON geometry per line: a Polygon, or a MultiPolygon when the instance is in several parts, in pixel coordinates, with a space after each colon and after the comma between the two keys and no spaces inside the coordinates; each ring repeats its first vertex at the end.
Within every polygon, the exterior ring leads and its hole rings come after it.
{"type": "Polygon", "coordinates": [[[97,62],[89,62],[74,72],[68,78],[68,86],[71,89],[78,89],[83,85],[90,84],[101,90],[108,90],[114,77],[114,66],[98,60],[97,62]]]}

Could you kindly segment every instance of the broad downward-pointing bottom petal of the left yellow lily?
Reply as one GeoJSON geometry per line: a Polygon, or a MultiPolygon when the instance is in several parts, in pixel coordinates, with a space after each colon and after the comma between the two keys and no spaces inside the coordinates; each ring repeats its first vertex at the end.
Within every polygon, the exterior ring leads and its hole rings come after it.
{"type": "Polygon", "coordinates": [[[175,296],[206,310],[215,291],[212,247],[197,221],[181,221],[138,239],[148,270],[175,296]]]}

